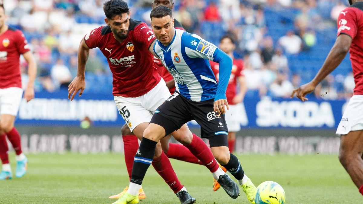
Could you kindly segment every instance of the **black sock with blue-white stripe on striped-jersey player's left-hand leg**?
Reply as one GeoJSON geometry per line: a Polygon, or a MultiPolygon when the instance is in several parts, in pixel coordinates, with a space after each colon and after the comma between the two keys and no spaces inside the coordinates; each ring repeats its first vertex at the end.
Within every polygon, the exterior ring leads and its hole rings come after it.
{"type": "Polygon", "coordinates": [[[130,182],[141,185],[142,180],[154,158],[157,142],[142,138],[139,150],[136,152],[134,166],[132,167],[130,182]]]}

